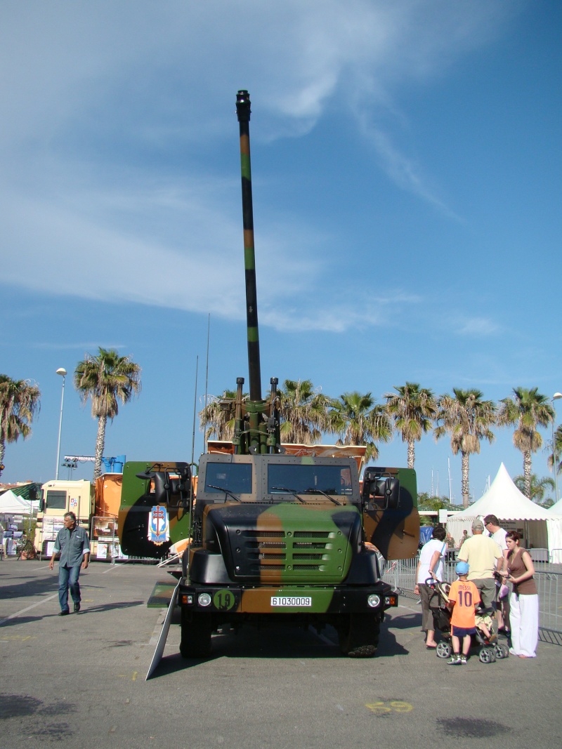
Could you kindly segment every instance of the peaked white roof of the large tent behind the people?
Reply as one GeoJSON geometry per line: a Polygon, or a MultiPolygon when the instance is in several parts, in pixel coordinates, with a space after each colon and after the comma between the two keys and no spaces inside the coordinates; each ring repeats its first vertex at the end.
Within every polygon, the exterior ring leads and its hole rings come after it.
{"type": "MultiPolygon", "coordinates": [[[[558,512],[561,512],[559,509],[558,512]]],[[[480,515],[496,515],[498,520],[552,520],[552,508],[547,510],[525,497],[513,483],[502,463],[489,490],[474,504],[455,518],[476,518],[480,515]]]]}

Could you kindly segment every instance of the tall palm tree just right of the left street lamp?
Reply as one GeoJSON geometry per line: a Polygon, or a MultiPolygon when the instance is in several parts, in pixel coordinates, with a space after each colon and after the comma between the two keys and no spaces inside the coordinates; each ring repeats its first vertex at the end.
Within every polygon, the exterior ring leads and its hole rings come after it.
{"type": "Polygon", "coordinates": [[[91,415],[97,419],[94,479],[101,474],[101,458],[106,443],[107,419],[118,414],[118,401],[125,404],[141,389],[141,368],[130,357],[120,357],[115,349],[101,348],[97,356],[85,354],[76,365],[74,386],[85,403],[91,398],[91,415]]]}

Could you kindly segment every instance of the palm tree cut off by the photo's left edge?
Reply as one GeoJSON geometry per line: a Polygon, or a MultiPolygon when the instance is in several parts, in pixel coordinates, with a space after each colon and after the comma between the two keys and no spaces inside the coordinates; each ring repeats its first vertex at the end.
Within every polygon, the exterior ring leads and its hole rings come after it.
{"type": "MultiPolygon", "coordinates": [[[[6,443],[27,439],[31,422],[40,410],[41,393],[29,380],[12,380],[0,375],[0,466],[4,465],[6,443]]],[[[0,474],[2,469],[0,468],[0,474]]]]}

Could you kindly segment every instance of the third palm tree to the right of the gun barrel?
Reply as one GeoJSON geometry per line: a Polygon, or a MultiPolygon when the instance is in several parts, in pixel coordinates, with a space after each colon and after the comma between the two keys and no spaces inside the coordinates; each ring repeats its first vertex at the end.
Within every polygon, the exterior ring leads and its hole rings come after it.
{"type": "Polygon", "coordinates": [[[437,403],[431,390],[420,388],[417,382],[394,386],[394,392],[385,392],[387,411],[394,419],[396,431],[402,434],[402,442],[408,443],[408,468],[413,468],[416,460],[415,442],[422,434],[432,430],[432,422],[437,416],[437,403]]]}

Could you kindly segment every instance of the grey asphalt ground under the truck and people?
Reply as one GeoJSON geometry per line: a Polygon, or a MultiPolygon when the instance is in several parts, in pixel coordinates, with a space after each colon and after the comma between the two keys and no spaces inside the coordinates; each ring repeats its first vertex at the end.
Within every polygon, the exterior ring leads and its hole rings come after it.
{"type": "MultiPolygon", "coordinates": [[[[82,611],[58,616],[47,562],[0,562],[0,745],[34,748],[558,748],[562,647],[447,666],[426,649],[411,598],[383,626],[376,658],[339,654],[335,633],[247,628],[213,655],[179,655],[175,616],[145,675],[169,577],[153,565],[92,562],[82,611]]],[[[170,578],[171,579],[171,578],[170,578]]]]}

